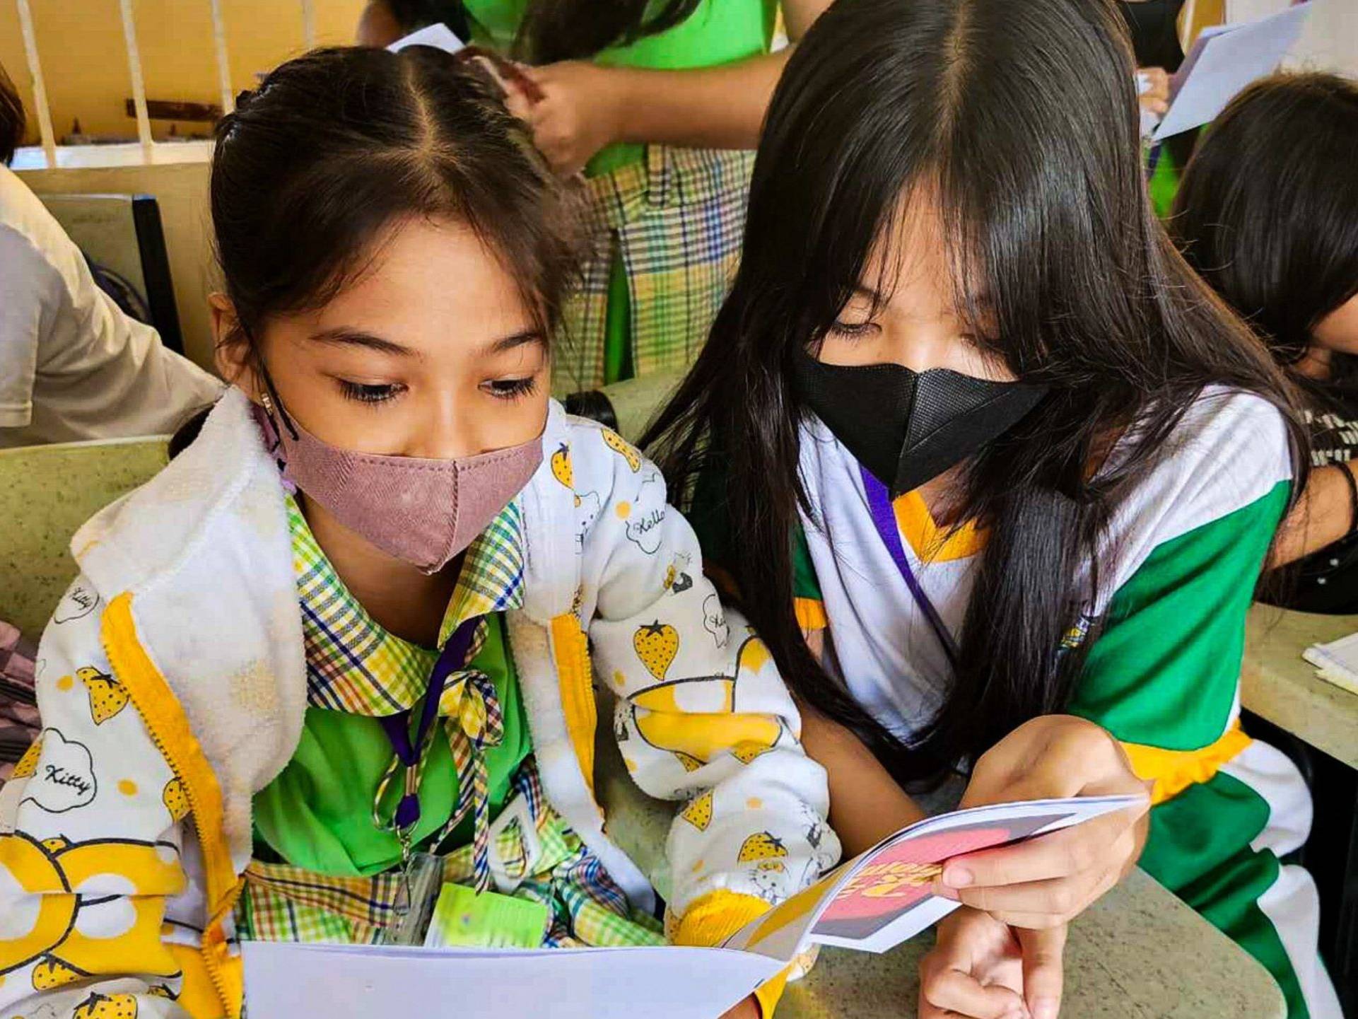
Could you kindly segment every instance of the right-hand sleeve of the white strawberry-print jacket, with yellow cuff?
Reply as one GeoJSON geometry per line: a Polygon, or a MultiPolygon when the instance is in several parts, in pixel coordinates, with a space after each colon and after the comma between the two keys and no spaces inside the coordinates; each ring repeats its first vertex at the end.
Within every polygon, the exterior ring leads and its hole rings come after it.
{"type": "Polygon", "coordinates": [[[669,936],[714,944],[839,859],[826,773],[767,648],[703,577],[660,471],[612,432],[581,442],[612,458],[584,549],[595,666],[637,785],[684,800],[667,842],[669,936]]]}

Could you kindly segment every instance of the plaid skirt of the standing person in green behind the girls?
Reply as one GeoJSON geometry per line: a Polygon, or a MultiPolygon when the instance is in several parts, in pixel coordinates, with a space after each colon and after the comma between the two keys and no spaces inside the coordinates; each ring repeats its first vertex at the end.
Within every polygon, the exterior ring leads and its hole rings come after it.
{"type": "Polygon", "coordinates": [[[740,262],[754,152],[648,145],[641,162],[585,181],[598,239],[553,351],[558,395],[604,385],[608,274],[621,255],[637,375],[687,367],[740,262]]]}

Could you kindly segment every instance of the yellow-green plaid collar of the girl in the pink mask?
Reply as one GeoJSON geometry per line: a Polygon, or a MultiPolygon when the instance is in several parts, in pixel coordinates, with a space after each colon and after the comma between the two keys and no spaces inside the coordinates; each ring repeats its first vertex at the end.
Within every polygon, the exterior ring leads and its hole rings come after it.
{"type": "MultiPolygon", "coordinates": [[[[335,573],[291,495],[287,511],[301,602],[307,702],[371,716],[411,708],[424,696],[437,654],[378,624],[335,573]]],[[[439,628],[440,648],[466,620],[523,607],[523,511],[513,500],[467,548],[439,628]]]]}

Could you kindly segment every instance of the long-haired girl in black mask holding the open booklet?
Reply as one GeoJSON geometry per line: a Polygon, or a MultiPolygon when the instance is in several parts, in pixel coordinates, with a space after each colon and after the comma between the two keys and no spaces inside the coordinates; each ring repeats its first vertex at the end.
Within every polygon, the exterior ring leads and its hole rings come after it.
{"type": "MultiPolygon", "coordinates": [[[[1338,1016],[1315,886],[1279,863],[1305,784],[1237,720],[1306,436],[1152,212],[1131,80],[1107,0],[832,7],[774,95],[718,342],[649,437],[812,709],[849,852],[915,812],[907,783],[1077,795],[1126,754],[1156,804],[1142,867],[1293,1016],[1338,1016]]],[[[989,913],[945,929],[1050,952],[1028,928],[1059,940],[1135,856],[1133,821],[949,861],[938,890],[989,913]]],[[[976,977],[980,954],[940,961],[976,977]]],[[[953,981],[921,1016],[999,1014],[997,980],[1052,1014],[1029,973],[953,981]]]]}

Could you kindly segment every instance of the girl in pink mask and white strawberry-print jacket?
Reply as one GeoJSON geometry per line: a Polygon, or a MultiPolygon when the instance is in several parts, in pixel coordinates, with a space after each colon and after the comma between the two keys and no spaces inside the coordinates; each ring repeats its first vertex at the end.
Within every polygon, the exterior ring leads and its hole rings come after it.
{"type": "Polygon", "coordinates": [[[835,863],[659,471],[547,397],[566,209],[436,50],[316,52],[221,121],[234,385],[72,543],[0,796],[0,1014],[236,1016],[238,939],[398,940],[430,864],[536,947],[710,944],[835,863]],[[687,800],[663,920],[603,829],[595,674],[637,784],[687,800]]]}

